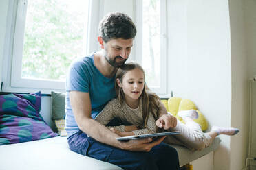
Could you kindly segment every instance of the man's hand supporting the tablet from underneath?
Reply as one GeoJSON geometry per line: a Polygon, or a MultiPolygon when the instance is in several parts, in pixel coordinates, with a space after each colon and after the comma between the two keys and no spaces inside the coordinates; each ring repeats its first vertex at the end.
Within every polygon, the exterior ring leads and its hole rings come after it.
{"type": "Polygon", "coordinates": [[[148,152],[152,149],[152,147],[159,145],[160,142],[164,140],[166,136],[162,136],[161,138],[157,138],[152,141],[152,138],[142,138],[138,140],[129,140],[128,142],[120,142],[122,145],[122,149],[129,151],[145,151],[148,152]]]}

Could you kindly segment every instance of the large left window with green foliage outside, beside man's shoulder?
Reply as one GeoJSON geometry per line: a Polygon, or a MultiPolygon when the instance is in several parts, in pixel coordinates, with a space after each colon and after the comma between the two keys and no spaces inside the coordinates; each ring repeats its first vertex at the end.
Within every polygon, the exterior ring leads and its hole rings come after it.
{"type": "Polygon", "coordinates": [[[19,0],[11,86],[65,89],[70,62],[85,56],[88,1],[19,0]]]}

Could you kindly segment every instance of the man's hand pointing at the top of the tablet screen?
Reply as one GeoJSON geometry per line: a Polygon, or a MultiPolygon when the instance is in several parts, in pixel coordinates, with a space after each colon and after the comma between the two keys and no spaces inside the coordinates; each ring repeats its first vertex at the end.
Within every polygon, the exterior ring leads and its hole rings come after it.
{"type": "Polygon", "coordinates": [[[176,127],[177,118],[171,114],[163,114],[158,120],[156,120],[156,126],[168,130],[169,128],[176,127]]]}

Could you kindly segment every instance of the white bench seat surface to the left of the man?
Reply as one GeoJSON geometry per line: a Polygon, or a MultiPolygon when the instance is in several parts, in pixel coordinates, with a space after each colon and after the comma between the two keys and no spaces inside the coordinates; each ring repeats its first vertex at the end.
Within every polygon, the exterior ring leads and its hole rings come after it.
{"type": "Polygon", "coordinates": [[[66,137],[0,146],[0,169],[82,170],[121,169],[88,156],[70,151],[66,137]]]}

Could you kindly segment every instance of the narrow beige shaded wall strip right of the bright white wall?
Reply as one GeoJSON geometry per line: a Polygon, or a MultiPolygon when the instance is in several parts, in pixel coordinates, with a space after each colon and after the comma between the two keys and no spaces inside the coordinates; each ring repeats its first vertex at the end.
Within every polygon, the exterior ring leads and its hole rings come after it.
{"type": "Polygon", "coordinates": [[[244,32],[244,0],[229,1],[231,25],[231,126],[240,132],[231,137],[230,169],[242,169],[248,144],[248,73],[244,32]]]}

